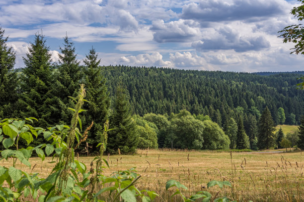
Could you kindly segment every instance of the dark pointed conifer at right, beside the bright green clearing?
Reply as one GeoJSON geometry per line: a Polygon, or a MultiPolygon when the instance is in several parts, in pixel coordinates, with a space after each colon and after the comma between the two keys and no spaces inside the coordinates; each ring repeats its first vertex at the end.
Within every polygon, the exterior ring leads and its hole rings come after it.
{"type": "Polygon", "coordinates": [[[272,120],[271,113],[266,106],[259,120],[258,127],[258,147],[259,149],[270,149],[276,143],[274,131],[274,121],[272,120]]]}

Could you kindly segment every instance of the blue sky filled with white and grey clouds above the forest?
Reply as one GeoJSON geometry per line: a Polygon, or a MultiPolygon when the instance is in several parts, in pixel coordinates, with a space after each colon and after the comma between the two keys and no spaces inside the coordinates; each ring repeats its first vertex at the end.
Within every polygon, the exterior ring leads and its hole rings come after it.
{"type": "Polygon", "coordinates": [[[15,68],[35,33],[58,61],[63,38],[82,61],[93,47],[101,65],[234,72],[303,71],[278,31],[300,22],[297,0],[0,0],[0,26],[15,68]]]}

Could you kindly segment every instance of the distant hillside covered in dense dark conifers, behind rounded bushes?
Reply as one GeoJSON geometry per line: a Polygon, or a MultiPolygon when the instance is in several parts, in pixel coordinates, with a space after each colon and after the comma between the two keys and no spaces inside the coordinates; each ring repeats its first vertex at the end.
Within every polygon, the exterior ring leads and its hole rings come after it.
{"type": "Polygon", "coordinates": [[[298,124],[304,114],[304,91],[296,84],[301,74],[260,76],[251,73],[177,70],[127,66],[103,67],[110,96],[120,82],[127,88],[135,114],[170,115],[181,109],[209,115],[223,126],[235,113],[257,118],[267,105],[276,123],[278,108],[287,124],[298,124]]]}

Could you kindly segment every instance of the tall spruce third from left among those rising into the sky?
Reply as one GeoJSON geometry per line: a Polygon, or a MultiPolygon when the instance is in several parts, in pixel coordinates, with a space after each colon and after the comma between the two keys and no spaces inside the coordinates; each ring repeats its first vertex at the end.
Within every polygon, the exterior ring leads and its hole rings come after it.
{"type": "MultiPolygon", "coordinates": [[[[59,67],[57,81],[54,84],[53,94],[59,98],[55,101],[54,108],[60,114],[60,121],[68,123],[72,116],[72,111],[68,107],[73,108],[74,103],[69,96],[76,96],[79,84],[83,77],[83,72],[76,59],[76,50],[74,43],[66,36],[64,38],[64,47],[60,47],[59,67]]],[[[56,114],[58,119],[58,114],[56,114]]]]}

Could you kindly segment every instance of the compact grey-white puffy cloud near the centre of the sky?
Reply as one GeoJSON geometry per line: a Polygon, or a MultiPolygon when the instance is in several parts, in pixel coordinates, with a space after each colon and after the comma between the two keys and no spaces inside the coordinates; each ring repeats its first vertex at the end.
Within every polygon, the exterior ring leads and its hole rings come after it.
{"type": "Polygon", "coordinates": [[[178,20],[164,23],[153,21],[151,30],[153,39],[158,43],[189,42],[200,35],[199,24],[193,20],[178,20]]]}

